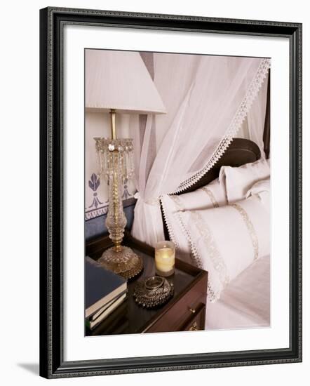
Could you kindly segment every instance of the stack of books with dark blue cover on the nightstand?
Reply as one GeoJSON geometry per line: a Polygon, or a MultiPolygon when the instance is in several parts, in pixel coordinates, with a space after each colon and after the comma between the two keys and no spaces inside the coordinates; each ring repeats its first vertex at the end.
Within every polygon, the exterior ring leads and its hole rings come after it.
{"type": "Polygon", "coordinates": [[[127,281],[86,257],[85,317],[86,327],[93,330],[126,299],[127,281]]]}

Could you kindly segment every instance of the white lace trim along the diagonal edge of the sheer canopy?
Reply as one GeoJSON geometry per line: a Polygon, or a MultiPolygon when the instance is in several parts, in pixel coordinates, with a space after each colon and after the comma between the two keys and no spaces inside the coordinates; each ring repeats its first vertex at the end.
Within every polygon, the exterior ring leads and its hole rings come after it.
{"type": "Polygon", "coordinates": [[[252,106],[253,101],[255,100],[262,84],[264,83],[264,79],[267,76],[268,69],[270,68],[271,60],[270,59],[262,59],[260,65],[257,69],[257,73],[252,79],[250,86],[248,87],[248,91],[241,102],[241,105],[238,107],[234,118],[227,129],[227,133],[224,135],[224,138],[220,141],[220,144],[217,146],[217,149],[213,153],[213,156],[208,160],[208,163],[201,168],[196,174],[192,175],[190,178],[182,182],[177,189],[170,194],[177,194],[183,192],[187,188],[194,185],[198,180],[200,180],[205,173],[207,173],[210,168],[212,168],[216,162],[222,157],[224,152],[226,152],[227,147],[229,147],[231,141],[234,138],[234,135],[238,132],[241,127],[245,117],[247,116],[250,107],[252,106]]]}

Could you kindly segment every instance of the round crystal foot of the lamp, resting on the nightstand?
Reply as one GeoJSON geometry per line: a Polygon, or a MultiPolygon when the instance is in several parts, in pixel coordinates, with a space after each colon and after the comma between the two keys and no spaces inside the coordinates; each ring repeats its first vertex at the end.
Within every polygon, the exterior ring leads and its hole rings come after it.
{"type": "Polygon", "coordinates": [[[102,253],[98,260],[102,267],[121,275],[125,279],[131,279],[143,269],[143,260],[128,246],[121,246],[121,251],[115,251],[114,247],[102,253]]]}

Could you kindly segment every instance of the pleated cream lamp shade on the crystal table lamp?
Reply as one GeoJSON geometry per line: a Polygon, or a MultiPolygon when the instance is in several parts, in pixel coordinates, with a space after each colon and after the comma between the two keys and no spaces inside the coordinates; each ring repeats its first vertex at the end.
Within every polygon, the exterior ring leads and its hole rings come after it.
{"type": "Polygon", "coordinates": [[[86,112],[166,113],[137,52],[86,50],[86,112]]]}

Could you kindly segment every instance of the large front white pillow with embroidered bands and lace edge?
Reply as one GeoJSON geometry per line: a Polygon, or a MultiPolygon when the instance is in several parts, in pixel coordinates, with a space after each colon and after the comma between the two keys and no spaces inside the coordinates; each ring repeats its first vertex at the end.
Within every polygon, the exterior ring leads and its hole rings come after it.
{"type": "Polygon", "coordinates": [[[178,212],[175,218],[196,265],[209,272],[208,296],[213,302],[231,279],[270,253],[270,212],[257,194],[220,208],[178,212]]]}

